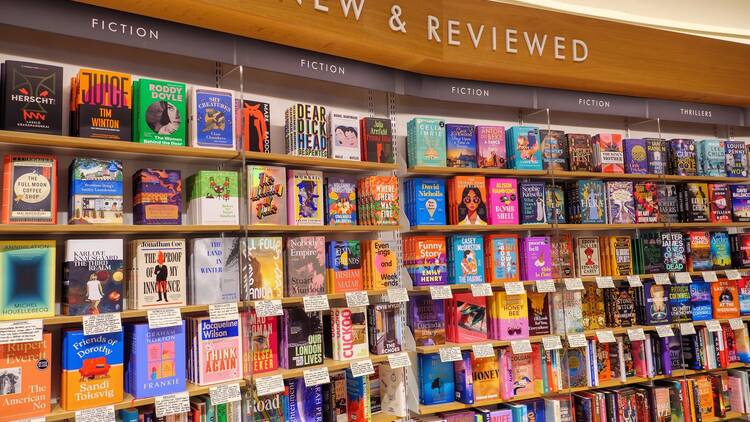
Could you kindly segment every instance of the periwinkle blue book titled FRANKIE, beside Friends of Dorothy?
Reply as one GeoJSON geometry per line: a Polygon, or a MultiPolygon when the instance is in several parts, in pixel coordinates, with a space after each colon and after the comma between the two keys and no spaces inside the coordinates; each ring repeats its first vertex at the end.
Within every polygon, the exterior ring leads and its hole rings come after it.
{"type": "Polygon", "coordinates": [[[185,391],[185,323],[125,326],[125,391],[137,399],[185,391]]]}

